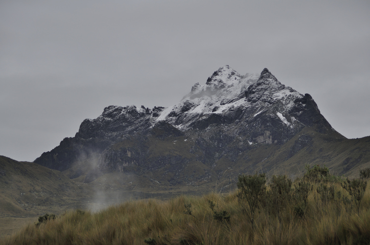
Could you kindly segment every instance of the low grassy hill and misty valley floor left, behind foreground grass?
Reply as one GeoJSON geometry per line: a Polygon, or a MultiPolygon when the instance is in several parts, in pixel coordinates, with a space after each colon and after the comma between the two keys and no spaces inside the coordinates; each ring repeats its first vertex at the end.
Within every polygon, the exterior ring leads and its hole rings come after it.
{"type": "Polygon", "coordinates": [[[70,179],[66,173],[39,164],[0,156],[0,237],[45,213],[100,210],[128,200],[168,199],[181,193],[199,194],[188,186],[162,188],[150,174],[107,173],[86,184],[83,178],[70,179]]]}

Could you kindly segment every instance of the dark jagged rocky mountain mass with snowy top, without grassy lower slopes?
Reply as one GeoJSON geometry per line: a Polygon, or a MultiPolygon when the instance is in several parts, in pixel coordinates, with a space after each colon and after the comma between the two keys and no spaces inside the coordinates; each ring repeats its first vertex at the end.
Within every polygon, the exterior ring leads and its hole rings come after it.
{"type": "MultiPolygon", "coordinates": [[[[262,145],[280,147],[305,127],[344,139],[309,94],[281,84],[268,69],[240,75],[224,66],[205,84],[196,83],[177,105],[104,108],[96,119],[84,120],[74,138],[64,139],[35,162],[63,171],[98,156],[89,181],[104,171],[157,171],[175,173],[178,179],[184,175],[188,183],[211,181],[220,161],[230,168],[262,145]],[[199,173],[181,173],[196,166],[202,166],[199,173]]],[[[82,174],[86,171],[80,169],[82,174]]]]}

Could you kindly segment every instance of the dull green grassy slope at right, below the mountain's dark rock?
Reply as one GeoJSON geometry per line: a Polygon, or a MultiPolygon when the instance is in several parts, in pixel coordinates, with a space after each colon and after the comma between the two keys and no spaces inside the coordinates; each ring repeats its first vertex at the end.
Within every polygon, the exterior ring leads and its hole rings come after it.
{"type": "MultiPolygon", "coordinates": [[[[370,137],[345,139],[338,134],[321,134],[315,127],[306,127],[283,145],[265,145],[240,153],[233,163],[221,158],[215,171],[223,173],[225,180],[235,183],[240,173],[256,171],[268,175],[300,177],[305,166],[320,165],[335,175],[358,177],[359,170],[370,167],[370,137]]],[[[233,185],[235,186],[235,185],[233,185]]]]}

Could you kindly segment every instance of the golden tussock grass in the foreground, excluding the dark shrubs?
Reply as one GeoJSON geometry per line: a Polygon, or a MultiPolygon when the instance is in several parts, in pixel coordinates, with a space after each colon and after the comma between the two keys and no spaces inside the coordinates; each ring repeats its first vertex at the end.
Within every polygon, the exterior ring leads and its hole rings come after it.
{"type": "MultiPolygon", "coordinates": [[[[297,215],[297,201],[292,197],[286,199],[289,201],[279,218],[269,211],[271,207],[260,205],[252,225],[240,207],[237,191],[210,193],[168,201],[129,201],[96,213],[71,210],[54,220],[29,224],[0,241],[0,245],[370,244],[370,186],[357,210],[353,202],[322,198],[317,191],[322,184],[310,182],[303,216],[297,215]],[[215,212],[223,211],[230,215],[230,220],[215,218],[215,212]]],[[[324,182],[324,185],[333,186],[341,197],[350,198],[340,182],[324,182]]],[[[293,183],[292,193],[295,186],[293,183]]]]}

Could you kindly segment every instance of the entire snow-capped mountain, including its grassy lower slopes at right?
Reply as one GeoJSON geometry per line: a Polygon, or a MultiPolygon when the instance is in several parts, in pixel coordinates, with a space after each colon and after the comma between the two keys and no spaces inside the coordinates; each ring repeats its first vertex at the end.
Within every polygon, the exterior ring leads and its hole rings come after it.
{"type": "Polygon", "coordinates": [[[281,84],[268,69],[240,75],[224,66],[177,105],[104,108],[34,162],[86,183],[120,172],[149,186],[231,188],[242,173],[294,177],[306,164],[352,175],[370,165],[369,149],[369,137],[340,135],[309,94],[281,84]]]}

